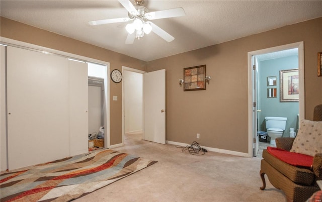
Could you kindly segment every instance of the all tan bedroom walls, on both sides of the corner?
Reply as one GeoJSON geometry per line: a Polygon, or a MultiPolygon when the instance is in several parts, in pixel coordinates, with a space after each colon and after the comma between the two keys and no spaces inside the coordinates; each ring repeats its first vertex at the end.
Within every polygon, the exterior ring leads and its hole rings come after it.
{"type": "MultiPolygon", "coordinates": [[[[318,18],[148,63],[5,18],[1,18],[1,36],[107,61],[111,71],[121,70],[122,65],[145,71],[166,68],[167,140],[192,143],[200,133],[200,145],[248,153],[247,53],[304,41],[305,118],[311,120],[314,106],[322,103],[322,77],[317,77],[321,24],[318,18]],[[207,89],[184,92],[178,83],[183,68],[203,64],[212,77],[207,89]]],[[[110,95],[113,145],[122,141],[120,83],[110,83],[110,95]],[[117,102],[113,95],[119,97],[117,102]]]]}

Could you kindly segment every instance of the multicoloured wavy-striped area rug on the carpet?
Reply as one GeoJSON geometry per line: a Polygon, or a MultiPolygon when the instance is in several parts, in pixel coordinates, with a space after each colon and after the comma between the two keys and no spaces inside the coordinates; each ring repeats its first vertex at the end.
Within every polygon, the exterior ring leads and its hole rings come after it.
{"type": "Polygon", "coordinates": [[[1,201],[69,201],[156,161],[110,149],[1,174],[1,201]]]}

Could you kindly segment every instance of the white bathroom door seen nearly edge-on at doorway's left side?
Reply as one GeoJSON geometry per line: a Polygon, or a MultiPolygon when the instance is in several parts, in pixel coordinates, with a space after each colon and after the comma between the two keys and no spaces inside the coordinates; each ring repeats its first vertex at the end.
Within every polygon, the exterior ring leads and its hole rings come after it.
{"type": "Polygon", "coordinates": [[[254,138],[254,156],[257,156],[259,145],[258,145],[258,133],[257,133],[257,64],[256,57],[253,56],[253,138],[254,138]]]}

